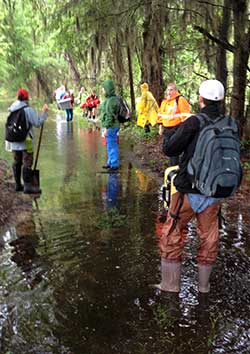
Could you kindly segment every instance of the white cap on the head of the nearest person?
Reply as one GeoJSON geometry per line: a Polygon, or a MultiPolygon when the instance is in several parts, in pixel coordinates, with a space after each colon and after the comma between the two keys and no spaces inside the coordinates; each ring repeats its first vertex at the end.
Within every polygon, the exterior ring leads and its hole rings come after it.
{"type": "Polygon", "coordinates": [[[218,80],[206,80],[199,88],[201,97],[211,101],[221,101],[224,99],[225,89],[218,80]]]}

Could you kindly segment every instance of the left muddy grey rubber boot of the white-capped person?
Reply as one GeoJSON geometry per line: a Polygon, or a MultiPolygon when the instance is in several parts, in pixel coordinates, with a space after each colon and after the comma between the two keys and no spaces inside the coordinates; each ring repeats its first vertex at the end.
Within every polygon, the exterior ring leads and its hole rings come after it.
{"type": "Polygon", "coordinates": [[[181,281],[181,263],[169,262],[166,259],[161,260],[161,283],[154,287],[162,290],[178,293],[180,291],[181,281]]]}

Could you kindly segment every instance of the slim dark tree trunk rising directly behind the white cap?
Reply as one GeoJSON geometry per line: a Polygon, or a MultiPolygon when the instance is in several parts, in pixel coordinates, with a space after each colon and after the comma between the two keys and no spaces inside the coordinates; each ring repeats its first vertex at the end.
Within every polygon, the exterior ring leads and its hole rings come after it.
{"type": "MultiPolygon", "coordinates": [[[[222,20],[219,25],[219,38],[223,42],[228,42],[228,34],[231,22],[231,11],[230,11],[231,0],[224,0],[223,14],[222,20]]],[[[227,50],[225,47],[220,45],[217,46],[216,53],[216,78],[222,82],[225,87],[225,91],[227,88],[227,50]]],[[[225,112],[225,101],[223,102],[222,107],[223,113],[225,112]]]]}

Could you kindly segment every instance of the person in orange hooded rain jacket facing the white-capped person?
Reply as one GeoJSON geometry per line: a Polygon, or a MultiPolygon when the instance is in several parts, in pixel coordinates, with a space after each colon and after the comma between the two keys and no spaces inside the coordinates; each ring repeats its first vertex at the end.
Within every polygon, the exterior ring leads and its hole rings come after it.
{"type": "MultiPolygon", "coordinates": [[[[188,117],[190,117],[188,101],[178,92],[176,85],[170,83],[158,112],[159,134],[163,134],[165,139],[167,130],[176,129],[188,117]]],[[[170,166],[178,164],[179,156],[170,157],[170,166]]]]}

